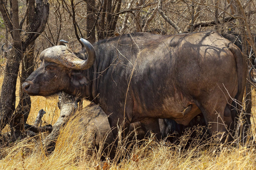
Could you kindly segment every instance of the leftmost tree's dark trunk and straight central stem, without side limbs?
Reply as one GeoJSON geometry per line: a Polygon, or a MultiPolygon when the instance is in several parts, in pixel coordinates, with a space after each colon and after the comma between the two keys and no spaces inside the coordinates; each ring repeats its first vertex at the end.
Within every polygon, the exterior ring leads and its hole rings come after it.
{"type": "Polygon", "coordinates": [[[1,90],[1,117],[0,117],[0,130],[4,128],[7,122],[11,120],[12,113],[15,109],[15,90],[16,81],[19,71],[20,59],[22,55],[19,24],[19,11],[18,0],[12,0],[12,23],[13,23],[13,48],[9,53],[4,81],[1,90]]]}

